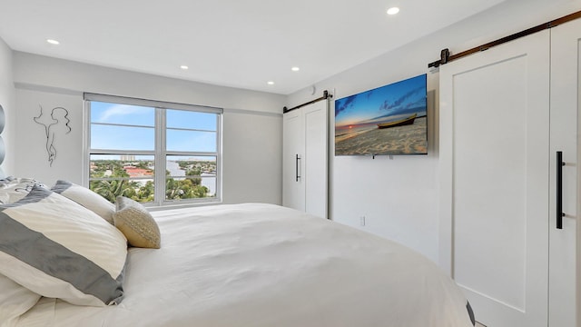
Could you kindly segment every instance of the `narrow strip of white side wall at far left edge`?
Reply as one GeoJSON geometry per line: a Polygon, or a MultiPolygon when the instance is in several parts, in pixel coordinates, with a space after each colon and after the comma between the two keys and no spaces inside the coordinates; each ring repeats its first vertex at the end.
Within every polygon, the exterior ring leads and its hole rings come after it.
{"type": "Polygon", "coordinates": [[[0,165],[0,176],[14,169],[15,155],[13,154],[13,140],[15,131],[15,86],[12,74],[12,50],[0,38],[0,105],[5,111],[5,129],[1,136],[5,143],[5,160],[0,165]]]}

